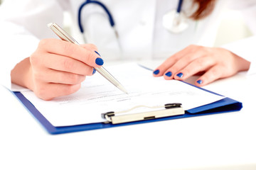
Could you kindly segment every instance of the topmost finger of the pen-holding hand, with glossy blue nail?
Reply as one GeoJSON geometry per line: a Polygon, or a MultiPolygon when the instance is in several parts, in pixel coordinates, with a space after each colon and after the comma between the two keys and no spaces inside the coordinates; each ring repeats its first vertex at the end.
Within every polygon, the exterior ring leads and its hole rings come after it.
{"type": "Polygon", "coordinates": [[[87,50],[84,47],[75,45],[71,42],[57,39],[44,39],[41,40],[39,45],[47,52],[72,57],[73,59],[84,62],[91,67],[100,67],[104,63],[96,52],[87,50]]]}

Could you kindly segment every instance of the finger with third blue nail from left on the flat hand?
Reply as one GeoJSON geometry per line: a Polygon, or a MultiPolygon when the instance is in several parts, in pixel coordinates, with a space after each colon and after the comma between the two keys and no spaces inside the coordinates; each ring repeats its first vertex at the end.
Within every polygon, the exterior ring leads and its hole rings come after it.
{"type": "Polygon", "coordinates": [[[204,72],[208,70],[210,67],[213,67],[215,61],[212,57],[200,57],[196,60],[193,60],[186,67],[178,71],[178,74],[174,76],[174,79],[184,80],[188,79],[188,77],[197,74],[198,72],[204,72]],[[180,77],[180,75],[182,75],[180,77]]]}

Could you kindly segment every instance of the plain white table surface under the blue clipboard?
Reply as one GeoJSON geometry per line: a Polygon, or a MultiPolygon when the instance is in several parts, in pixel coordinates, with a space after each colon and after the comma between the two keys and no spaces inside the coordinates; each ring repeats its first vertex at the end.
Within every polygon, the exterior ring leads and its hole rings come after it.
{"type": "Polygon", "coordinates": [[[204,87],[238,112],[49,135],[0,86],[0,169],[256,169],[255,87],[245,72],[204,87]]]}

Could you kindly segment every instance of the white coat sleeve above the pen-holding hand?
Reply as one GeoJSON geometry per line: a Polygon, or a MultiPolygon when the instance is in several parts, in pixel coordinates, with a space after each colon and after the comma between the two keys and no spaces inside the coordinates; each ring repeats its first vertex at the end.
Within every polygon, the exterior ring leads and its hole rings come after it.
{"type": "Polygon", "coordinates": [[[53,0],[5,0],[0,6],[0,83],[11,89],[11,70],[29,57],[43,38],[53,38],[47,23],[63,23],[63,6],[53,0]]]}

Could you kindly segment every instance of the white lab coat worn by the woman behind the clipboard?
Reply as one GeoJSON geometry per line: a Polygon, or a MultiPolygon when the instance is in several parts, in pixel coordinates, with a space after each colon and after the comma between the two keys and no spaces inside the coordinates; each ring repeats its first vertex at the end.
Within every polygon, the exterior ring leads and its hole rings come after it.
{"type": "MultiPolygon", "coordinates": [[[[219,0],[210,16],[201,21],[190,20],[187,30],[173,34],[161,22],[165,13],[176,8],[178,0],[100,1],[114,17],[118,39],[106,13],[93,4],[82,9],[85,34],[80,33],[78,8],[82,0],[5,0],[0,6],[1,84],[11,87],[11,69],[36,50],[39,40],[58,38],[46,25],[58,23],[63,26],[64,12],[71,14],[73,23],[70,32],[73,37],[80,43],[86,38],[87,42],[97,45],[104,60],[143,60],[167,58],[191,44],[213,46],[221,11],[230,6],[228,0],[219,0]]],[[[242,11],[252,33],[256,34],[256,0],[231,2],[242,11]]],[[[182,9],[188,15],[192,13],[194,8],[191,8],[191,0],[184,0],[182,9]]],[[[252,47],[255,39],[249,38],[226,47],[255,63],[256,48],[252,47]],[[245,48],[246,52],[243,50],[245,48]]]]}

